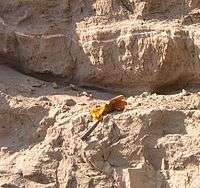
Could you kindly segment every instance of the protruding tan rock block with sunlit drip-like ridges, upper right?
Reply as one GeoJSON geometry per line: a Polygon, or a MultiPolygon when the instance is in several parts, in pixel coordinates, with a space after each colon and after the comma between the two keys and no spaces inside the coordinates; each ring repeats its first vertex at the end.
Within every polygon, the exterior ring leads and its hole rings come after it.
{"type": "Polygon", "coordinates": [[[188,81],[199,83],[198,41],[192,40],[188,31],[116,27],[119,37],[108,28],[96,29],[99,35],[96,31],[88,32],[88,36],[82,33],[83,49],[91,62],[79,68],[80,74],[85,73],[85,82],[152,89],[188,81]]]}

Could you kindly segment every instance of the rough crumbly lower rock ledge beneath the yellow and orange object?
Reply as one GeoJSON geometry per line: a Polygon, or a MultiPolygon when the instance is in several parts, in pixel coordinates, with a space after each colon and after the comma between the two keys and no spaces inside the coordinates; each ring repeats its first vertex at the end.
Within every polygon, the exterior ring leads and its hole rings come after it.
{"type": "Polygon", "coordinates": [[[129,97],[82,141],[89,106],[110,94],[54,88],[2,65],[0,80],[1,187],[200,187],[195,90],[129,97]]]}

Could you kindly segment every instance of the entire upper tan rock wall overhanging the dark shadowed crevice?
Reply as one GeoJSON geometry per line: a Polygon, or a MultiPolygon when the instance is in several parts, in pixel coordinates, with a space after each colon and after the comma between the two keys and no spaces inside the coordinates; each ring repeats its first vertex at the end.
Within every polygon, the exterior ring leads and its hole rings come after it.
{"type": "Polygon", "coordinates": [[[121,90],[199,84],[198,1],[14,0],[0,7],[2,63],[121,90]]]}

